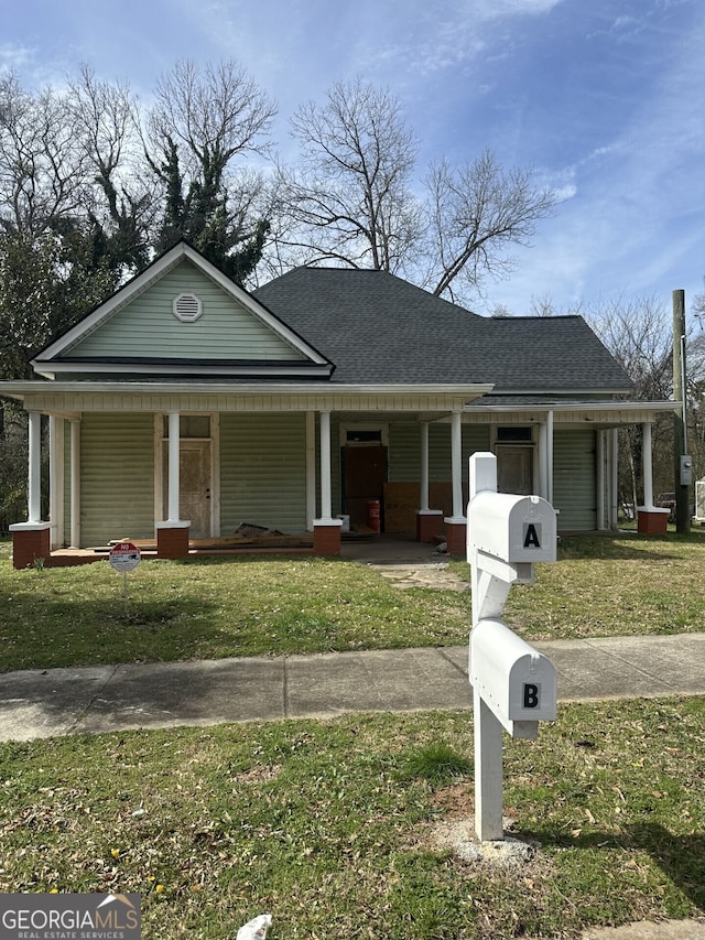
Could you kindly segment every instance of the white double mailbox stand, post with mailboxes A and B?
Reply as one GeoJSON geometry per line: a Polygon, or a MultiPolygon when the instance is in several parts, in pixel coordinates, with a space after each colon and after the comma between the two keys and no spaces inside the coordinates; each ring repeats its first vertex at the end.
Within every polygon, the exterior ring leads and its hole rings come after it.
{"type": "Polygon", "coordinates": [[[533,583],[534,561],[555,561],[556,518],[539,496],[497,493],[494,454],[473,454],[469,482],[475,829],[487,842],[503,839],[502,728],[512,737],[535,738],[539,722],[556,716],[553,663],[501,622],[511,585],[533,583]]]}

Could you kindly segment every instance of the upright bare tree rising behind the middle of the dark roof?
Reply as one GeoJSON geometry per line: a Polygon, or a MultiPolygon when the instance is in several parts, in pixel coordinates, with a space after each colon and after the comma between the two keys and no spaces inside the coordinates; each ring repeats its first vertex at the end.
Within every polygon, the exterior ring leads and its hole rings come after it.
{"type": "Polygon", "coordinates": [[[422,234],[410,181],[416,138],[399,101],[360,78],[337,83],[324,106],[310,101],[292,120],[297,169],[283,169],[280,193],[293,233],[280,240],[306,262],[398,271],[422,234]]]}

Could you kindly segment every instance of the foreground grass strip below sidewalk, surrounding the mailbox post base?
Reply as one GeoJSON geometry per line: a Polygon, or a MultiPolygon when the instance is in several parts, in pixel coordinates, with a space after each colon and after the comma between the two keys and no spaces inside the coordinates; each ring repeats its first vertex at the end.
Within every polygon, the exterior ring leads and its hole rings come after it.
{"type": "Polygon", "coordinates": [[[507,741],[505,810],[541,843],[514,869],[435,838],[471,828],[466,713],[4,744],[0,890],[137,892],[145,940],[232,940],[263,911],[272,940],[703,916],[704,714],[702,698],[576,704],[507,741]]]}

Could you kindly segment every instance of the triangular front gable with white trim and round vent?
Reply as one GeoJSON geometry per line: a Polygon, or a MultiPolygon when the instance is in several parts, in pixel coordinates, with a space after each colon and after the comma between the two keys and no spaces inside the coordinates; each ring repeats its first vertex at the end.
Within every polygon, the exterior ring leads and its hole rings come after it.
{"type": "Polygon", "coordinates": [[[333,365],[185,242],[40,353],[51,378],[328,377],[333,365]]]}

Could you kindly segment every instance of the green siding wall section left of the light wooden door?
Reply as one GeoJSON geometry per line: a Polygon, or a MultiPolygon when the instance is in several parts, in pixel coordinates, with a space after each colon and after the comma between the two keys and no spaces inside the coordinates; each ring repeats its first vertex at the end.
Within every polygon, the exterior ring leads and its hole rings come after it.
{"type": "Polygon", "coordinates": [[[80,541],[154,538],[151,414],[85,414],[80,423],[80,541]]]}

